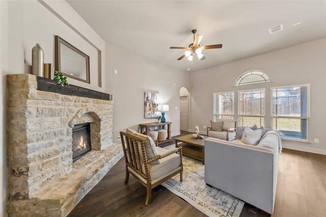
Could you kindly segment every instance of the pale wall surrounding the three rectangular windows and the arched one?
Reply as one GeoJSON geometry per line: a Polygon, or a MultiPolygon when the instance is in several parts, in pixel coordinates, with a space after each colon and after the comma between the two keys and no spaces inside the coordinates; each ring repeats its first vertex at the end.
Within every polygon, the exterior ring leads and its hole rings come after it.
{"type": "MultiPolygon", "coordinates": [[[[193,72],[192,95],[192,126],[200,127],[210,124],[213,118],[213,92],[266,87],[265,127],[270,128],[270,91],[269,87],[294,84],[311,84],[311,143],[283,141],[284,147],[326,154],[325,125],[325,94],[326,94],[326,38],[282,50],[234,61],[218,67],[193,72]],[[262,70],[272,81],[268,85],[251,85],[234,87],[235,80],[249,70],[262,70]],[[313,143],[314,138],[319,143],[313,143]]],[[[237,98],[236,98],[237,99],[237,98]]],[[[237,111],[237,108],[235,108],[237,111]]]]}

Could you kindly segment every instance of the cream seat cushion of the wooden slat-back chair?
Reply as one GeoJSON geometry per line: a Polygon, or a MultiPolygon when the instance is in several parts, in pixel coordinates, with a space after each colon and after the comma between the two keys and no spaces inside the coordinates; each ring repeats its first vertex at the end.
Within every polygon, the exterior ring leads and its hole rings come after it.
{"type": "MultiPolygon", "coordinates": [[[[164,149],[157,147],[158,153],[165,151],[164,149]]],[[[159,177],[164,176],[165,174],[171,172],[172,170],[178,168],[180,166],[180,156],[177,153],[172,153],[169,156],[160,159],[159,164],[148,165],[149,174],[151,176],[151,180],[155,180],[159,177]]],[[[142,170],[145,173],[144,164],[142,164],[142,170]]]]}

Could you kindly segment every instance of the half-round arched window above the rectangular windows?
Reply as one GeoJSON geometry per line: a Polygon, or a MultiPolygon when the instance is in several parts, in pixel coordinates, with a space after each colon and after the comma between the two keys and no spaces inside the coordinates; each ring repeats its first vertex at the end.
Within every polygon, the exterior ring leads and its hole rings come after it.
{"type": "Polygon", "coordinates": [[[250,70],[238,77],[235,86],[260,84],[270,82],[268,76],[261,70],[250,70]]]}

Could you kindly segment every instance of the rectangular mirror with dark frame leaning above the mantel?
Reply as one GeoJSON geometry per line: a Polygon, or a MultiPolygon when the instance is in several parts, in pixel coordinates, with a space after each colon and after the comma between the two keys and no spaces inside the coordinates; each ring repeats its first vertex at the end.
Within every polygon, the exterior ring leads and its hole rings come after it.
{"type": "Polygon", "coordinates": [[[90,57],[59,36],[55,36],[55,69],[64,76],[90,83],[90,57]]]}

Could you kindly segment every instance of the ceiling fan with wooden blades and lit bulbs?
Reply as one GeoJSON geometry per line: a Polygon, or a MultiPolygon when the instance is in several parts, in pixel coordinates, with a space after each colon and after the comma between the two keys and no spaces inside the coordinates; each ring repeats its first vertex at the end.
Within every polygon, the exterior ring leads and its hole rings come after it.
{"type": "Polygon", "coordinates": [[[189,61],[193,60],[194,55],[196,54],[200,60],[206,59],[202,51],[204,49],[215,49],[215,48],[222,48],[222,44],[215,44],[215,45],[206,45],[200,47],[199,43],[202,40],[202,35],[195,35],[197,29],[193,29],[192,33],[194,34],[194,43],[189,44],[188,47],[170,47],[170,49],[186,49],[184,54],[178,58],[178,60],[182,59],[183,57],[187,57],[189,61]]]}

